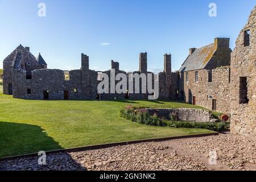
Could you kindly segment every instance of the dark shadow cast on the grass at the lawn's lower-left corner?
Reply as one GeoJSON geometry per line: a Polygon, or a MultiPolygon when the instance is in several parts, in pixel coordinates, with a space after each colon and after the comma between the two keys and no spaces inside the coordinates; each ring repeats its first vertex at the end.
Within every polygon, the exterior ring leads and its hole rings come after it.
{"type": "MultiPolygon", "coordinates": [[[[24,123],[0,121],[0,138],[0,158],[62,148],[59,143],[49,137],[40,126],[24,123]]],[[[38,157],[39,156],[35,156],[33,160],[37,161],[38,157]]],[[[76,166],[76,169],[83,169],[69,154],[65,154],[64,158],[69,161],[68,165],[76,166]]],[[[46,159],[48,159],[48,157],[46,159]]],[[[47,162],[49,161],[46,160],[46,163],[47,162]]],[[[24,166],[26,165],[30,164],[24,164],[24,166]]],[[[42,166],[35,162],[33,167],[47,169],[50,165],[42,166]]]]}

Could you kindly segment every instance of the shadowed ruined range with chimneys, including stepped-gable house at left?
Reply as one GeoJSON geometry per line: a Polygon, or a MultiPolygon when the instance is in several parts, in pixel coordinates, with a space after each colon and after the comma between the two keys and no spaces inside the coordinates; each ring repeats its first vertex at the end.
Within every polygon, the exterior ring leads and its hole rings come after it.
{"type": "MultiPolygon", "coordinates": [[[[106,73],[110,78],[113,69],[115,75],[118,73],[125,74],[127,85],[129,85],[128,73],[121,71],[119,63],[113,60],[111,61],[111,69],[104,72],[90,70],[89,57],[84,54],[81,55],[81,69],[72,71],[47,69],[47,64],[40,53],[38,58],[35,58],[30,53],[30,48],[20,45],[3,60],[3,93],[12,94],[14,98],[31,100],[96,99],[97,86],[101,82],[98,77],[102,73],[106,73]]],[[[139,71],[133,72],[134,75],[135,73],[151,73],[147,71],[146,52],[139,55],[139,71]]],[[[164,55],[164,71],[159,73],[158,77],[159,98],[170,99],[171,74],[171,55],[166,54],[164,55]]],[[[151,79],[154,81],[154,77],[151,79]]],[[[146,99],[149,94],[142,92],[142,78],[138,81],[139,93],[135,93],[134,85],[133,93],[127,91],[126,93],[118,94],[105,91],[104,98],[146,99]]],[[[115,85],[118,82],[115,81],[115,85]]]]}

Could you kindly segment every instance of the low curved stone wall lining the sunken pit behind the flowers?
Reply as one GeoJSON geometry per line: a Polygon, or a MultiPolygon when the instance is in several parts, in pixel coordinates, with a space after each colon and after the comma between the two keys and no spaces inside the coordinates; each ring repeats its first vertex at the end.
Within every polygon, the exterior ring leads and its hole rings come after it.
{"type": "Polygon", "coordinates": [[[146,109],[150,115],[156,114],[159,118],[177,118],[177,121],[216,122],[213,115],[204,109],[146,109]]]}

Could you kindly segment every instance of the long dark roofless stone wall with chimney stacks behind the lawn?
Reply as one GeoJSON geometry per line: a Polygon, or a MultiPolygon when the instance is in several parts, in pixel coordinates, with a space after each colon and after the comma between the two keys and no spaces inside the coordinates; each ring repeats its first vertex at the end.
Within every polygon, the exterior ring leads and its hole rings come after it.
{"type": "MultiPolygon", "coordinates": [[[[146,53],[141,54],[142,63],[146,63],[146,53]]],[[[159,99],[170,99],[170,84],[171,84],[171,55],[164,55],[165,71],[159,73],[159,99]],[[168,68],[170,67],[170,68],[168,68]]],[[[115,76],[118,73],[123,73],[127,78],[127,90],[129,90],[129,73],[119,70],[118,62],[111,62],[112,68],[115,70],[115,76]]],[[[146,70],[144,70],[146,71],[146,70]]],[[[147,99],[148,93],[142,93],[142,82],[139,80],[139,84],[133,88],[133,93],[110,93],[110,75],[111,71],[96,72],[89,69],[89,57],[81,55],[81,69],[69,71],[69,80],[65,80],[66,71],[60,69],[35,69],[29,71],[31,78],[26,79],[27,71],[24,69],[10,68],[6,73],[10,74],[11,83],[13,83],[13,96],[14,98],[24,98],[31,100],[43,100],[44,92],[48,92],[49,100],[94,100],[96,99],[97,86],[101,82],[98,80],[99,73],[106,73],[109,77],[109,93],[106,91],[102,94],[103,99],[125,99],[127,94],[129,99],[147,99]],[[135,93],[135,88],[138,88],[140,92],[135,93]],[[28,92],[28,89],[31,92],[28,92]],[[67,97],[64,97],[68,95],[67,97]]],[[[133,72],[133,74],[140,74],[140,72],[133,72]]],[[[151,72],[145,72],[151,73],[151,72]]],[[[154,89],[154,74],[152,74],[152,88],[154,89]]],[[[146,75],[147,76],[147,75],[146,75]]],[[[146,77],[147,81],[148,77],[146,77]]],[[[119,80],[115,80],[114,85],[118,84],[119,80]]],[[[135,79],[134,79],[135,82],[135,79]]]]}

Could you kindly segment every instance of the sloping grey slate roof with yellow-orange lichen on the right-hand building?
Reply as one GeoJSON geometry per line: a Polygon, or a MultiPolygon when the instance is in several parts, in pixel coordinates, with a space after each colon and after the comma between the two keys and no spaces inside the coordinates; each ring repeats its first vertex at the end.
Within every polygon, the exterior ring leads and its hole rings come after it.
{"type": "Polygon", "coordinates": [[[214,43],[196,49],[181,65],[179,72],[204,69],[215,51],[214,43]]]}

